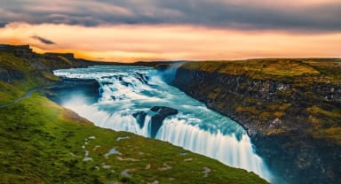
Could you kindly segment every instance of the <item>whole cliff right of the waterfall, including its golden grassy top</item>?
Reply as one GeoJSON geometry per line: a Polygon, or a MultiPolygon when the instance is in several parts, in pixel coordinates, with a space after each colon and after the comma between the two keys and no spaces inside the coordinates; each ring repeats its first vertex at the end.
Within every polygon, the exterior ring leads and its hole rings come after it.
{"type": "Polygon", "coordinates": [[[244,126],[279,183],[341,183],[340,73],[339,59],[192,62],[171,84],[244,126]]]}

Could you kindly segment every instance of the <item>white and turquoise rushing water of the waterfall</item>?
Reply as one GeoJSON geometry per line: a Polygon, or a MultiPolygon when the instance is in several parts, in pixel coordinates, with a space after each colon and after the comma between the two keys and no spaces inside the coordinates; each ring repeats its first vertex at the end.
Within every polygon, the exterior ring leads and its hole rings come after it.
{"type": "Polygon", "coordinates": [[[99,81],[98,103],[87,104],[79,95],[62,103],[97,126],[155,137],[271,180],[271,174],[262,158],[255,153],[242,126],[171,87],[153,68],[91,66],[54,73],[65,78],[99,81]],[[163,120],[155,136],[151,127],[151,117],[155,112],[150,111],[154,106],[178,110],[177,115],[163,120]],[[133,116],[140,111],[147,113],[143,122],[138,122],[133,116]]]}

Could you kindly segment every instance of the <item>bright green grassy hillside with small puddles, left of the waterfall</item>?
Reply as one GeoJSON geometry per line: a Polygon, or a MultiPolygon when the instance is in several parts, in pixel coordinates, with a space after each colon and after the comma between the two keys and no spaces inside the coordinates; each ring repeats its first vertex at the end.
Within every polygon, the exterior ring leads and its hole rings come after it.
{"type": "Polygon", "coordinates": [[[59,80],[48,60],[35,59],[0,53],[0,106],[8,103],[0,108],[0,183],[266,183],[167,142],[93,126],[37,92],[11,103],[59,80]]]}

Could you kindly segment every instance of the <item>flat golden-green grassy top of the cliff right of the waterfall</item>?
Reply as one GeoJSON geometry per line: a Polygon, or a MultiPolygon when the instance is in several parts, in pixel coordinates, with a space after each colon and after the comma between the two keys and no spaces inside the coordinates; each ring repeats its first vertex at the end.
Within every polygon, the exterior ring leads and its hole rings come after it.
{"type": "Polygon", "coordinates": [[[291,81],[298,78],[306,82],[341,81],[341,60],[331,58],[265,58],[188,62],[183,67],[208,73],[247,75],[260,80],[291,81]]]}

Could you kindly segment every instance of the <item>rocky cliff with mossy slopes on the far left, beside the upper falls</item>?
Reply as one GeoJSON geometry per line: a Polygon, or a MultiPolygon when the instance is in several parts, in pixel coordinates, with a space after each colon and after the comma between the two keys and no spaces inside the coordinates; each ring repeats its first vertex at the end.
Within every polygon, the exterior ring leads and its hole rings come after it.
{"type": "MultiPolygon", "coordinates": [[[[105,65],[105,63],[75,58],[73,54],[69,53],[37,54],[28,45],[0,44],[0,103],[10,103],[23,96],[23,91],[28,91],[31,88],[51,85],[56,88],[66,87],[67,85],[67,87],[71,87],[71,84],[76,86],[76,83],[79,83],[77,87],[81,87],[80,83],[84,83],[83,81],[62,81],[53,75],[52,71],[60,68],[90,65],[105,65]]],[[[62,90],[58,91],[67,95],[62,90]]],[[[48,89],[46,95],[52,97],[53,94],[50,92],[51,90],[48,89]]],[[[85,92],[88,93],[86,90],[85,92]]],[[[92,98],[90,100],[93,101],[92,98]]]]}

